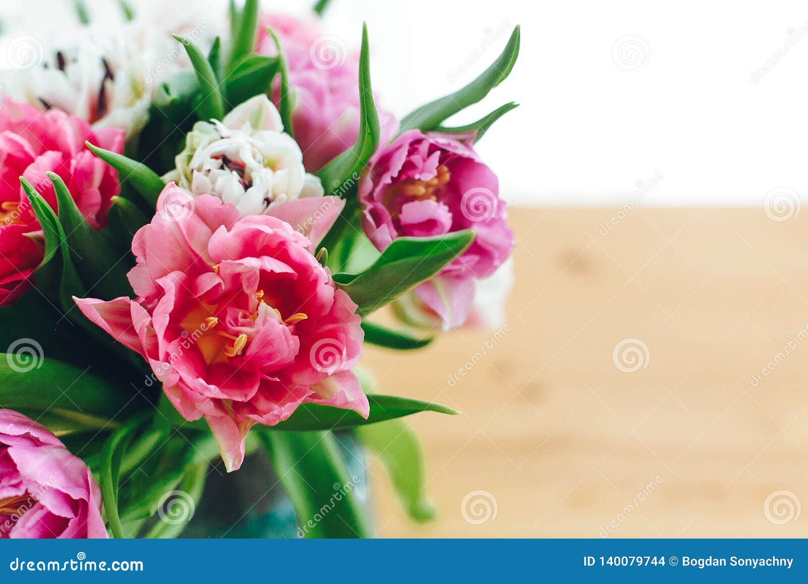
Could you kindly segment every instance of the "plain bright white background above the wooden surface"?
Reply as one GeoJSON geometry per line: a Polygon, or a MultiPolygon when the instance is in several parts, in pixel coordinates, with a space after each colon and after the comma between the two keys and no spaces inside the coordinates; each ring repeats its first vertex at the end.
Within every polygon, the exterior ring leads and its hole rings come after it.
{"type": "MultiPolygon", "coordinates": [[[[96,22],[110,21],[112,0],[87,2],[96,22]]],[[[173,2],[191,15],[206,3],[173,2]]],[[[6,38],[65,26],[69,4],[3,0],[6,38]]],[[[776,187],[808,195],[806,2],[333,0],[326,32],[356,46],[363,19],[374,89],[401,116],[470,81],[506,43],[497,32],[522,26],[511,77],[457,120],[522,104],[478,147],[508,200],[621,205],[656,173],[642,204],[760,205],[776,187]],[[638,48],[635,69],[630,55],[615,56],[625,36],[638,48]]]]}

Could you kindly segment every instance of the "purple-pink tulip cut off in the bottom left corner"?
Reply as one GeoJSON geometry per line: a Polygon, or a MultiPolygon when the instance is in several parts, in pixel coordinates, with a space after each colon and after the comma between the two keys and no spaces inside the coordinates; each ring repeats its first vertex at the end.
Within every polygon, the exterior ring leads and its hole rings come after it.
{"type": "Polygon", "coordinates": [[[90,469],[47,428],[0,410],[0,539],[106,538],[90,469]]]}

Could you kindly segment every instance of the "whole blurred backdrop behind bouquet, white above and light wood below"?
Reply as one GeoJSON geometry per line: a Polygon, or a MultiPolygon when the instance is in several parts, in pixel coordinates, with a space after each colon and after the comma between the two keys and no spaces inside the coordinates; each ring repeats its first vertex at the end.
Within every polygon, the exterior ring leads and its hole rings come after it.
{"type": "MultiPolygon", "coordinates": [[[[74,19],[7,4],[0,60],[74,19]]],[[[216,24],[222,4],[187,10],[216,24]]],[[[362,20],[399,115],[522,27],[511,77],[457,120],[521,103],[478,147],[512,203],[507,321],[368,349],[382,391],[463,412],[408,420],[435,522],[410,523],[371,460],[379,535],[808,536],[805,4],[334,0],[325,26],[351,49],[362,20]]]]}

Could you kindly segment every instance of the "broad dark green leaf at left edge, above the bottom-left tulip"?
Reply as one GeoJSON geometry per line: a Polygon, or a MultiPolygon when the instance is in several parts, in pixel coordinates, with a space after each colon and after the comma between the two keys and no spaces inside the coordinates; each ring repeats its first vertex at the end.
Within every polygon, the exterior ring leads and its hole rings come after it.
{"type": "MultiPolygon", "coordinates": [[[[4,347],[6,348],[6,347],[4,347]]],[[[52,359],[33,338],[21,338],[0,354],[0,404],[34,419],[57,416],[74,426],[115,426],[145,404],[124,400],[120,387],[69,363],[52,359]]]]}

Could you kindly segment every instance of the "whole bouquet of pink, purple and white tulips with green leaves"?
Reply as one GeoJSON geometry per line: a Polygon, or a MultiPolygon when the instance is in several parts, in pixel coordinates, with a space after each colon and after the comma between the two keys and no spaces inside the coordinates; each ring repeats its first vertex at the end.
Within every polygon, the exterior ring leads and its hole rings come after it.
{"type": "Polygon", "coordinates": [[[0,538],[179,536],[192,514],[166,498],[193,506],[211,464],[253,452],[299,535],[372,536],[340,432],[384,452],[429,519],[395,418],[457,412],[377,393],[356,366],[364,343],[414,350],[501,311],[514,237],[473,145],[516,104],[445,120],[507,77],[519,28],[398,120],[367,30],[348,55],[325,2],[200,23],[122,6],[120,30],[90,23],[0,75],[0,538]],[[385,305],[397,326],[374,320],[385,305]]]}

